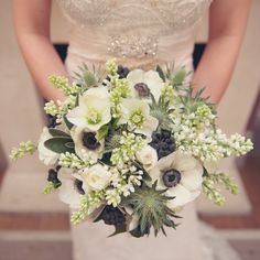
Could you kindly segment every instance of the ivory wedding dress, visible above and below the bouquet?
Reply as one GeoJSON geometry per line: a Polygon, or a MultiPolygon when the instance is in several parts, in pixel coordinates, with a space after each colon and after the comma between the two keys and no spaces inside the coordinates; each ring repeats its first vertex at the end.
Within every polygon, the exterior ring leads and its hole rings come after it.
{"type": "MultiPolygon", "coordinates": [[[[130,68],[149,69],[174,62],[175,66],[192,71],[196,32],[212,0],[57,2],[73,28],[66,58],[67,71],[73,75],[83,63],[91,67],[113,57],[130,68]]],[[[75,260],[214,259],[210,252],[205,253],[194,205],[187,205],[181,215],[182,225],[176,231],[167,230],[167,238],[107,238],[113,230],[102,223],[86,221],[73,227],[75,260]]]]}

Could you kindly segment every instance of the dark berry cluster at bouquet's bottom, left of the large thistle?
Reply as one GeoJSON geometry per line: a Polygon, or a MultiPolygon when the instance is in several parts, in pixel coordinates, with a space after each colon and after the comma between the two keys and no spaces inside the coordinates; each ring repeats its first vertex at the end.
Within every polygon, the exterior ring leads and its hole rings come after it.
{"type": "Polygon", "coordinates": [[[118,207],[111,205],[107,205],[104,208],[100,218],[105,224],[113,226],[122,225],[126,221],[123,213],[118,207]]]}

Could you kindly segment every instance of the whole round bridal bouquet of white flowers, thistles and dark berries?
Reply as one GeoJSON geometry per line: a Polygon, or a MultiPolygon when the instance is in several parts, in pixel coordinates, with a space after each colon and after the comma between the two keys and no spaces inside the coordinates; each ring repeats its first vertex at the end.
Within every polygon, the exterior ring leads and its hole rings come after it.
{"type": "Polygon", "coordinates": [[[171,65],[129,71],[116,61],[106,74],[84,65],[73,83],[51,76],[66,100],[47,102],[50,126],[39,142],[22,142],[10,156],[39,151],[50,167],[44,193],[58,192],[73,224],[104,220],[112,235],[165,235],[201,193],[217,205],[225,202],[220,185],[236,194],[216,162],[252,149],[217,128],[215,106],[188,77],[171,65]]]}

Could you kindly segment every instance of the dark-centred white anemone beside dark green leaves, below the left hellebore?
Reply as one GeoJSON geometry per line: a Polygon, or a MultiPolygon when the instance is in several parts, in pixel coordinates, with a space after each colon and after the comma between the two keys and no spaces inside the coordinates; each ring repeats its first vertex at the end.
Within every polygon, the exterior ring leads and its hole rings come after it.
{"type": "Polygon", "coordinates": [[[71,130],[75,143],[75,152],[82,160],[97,161],[102,158],[105,140],[97,140],[96,132],[89,129],[74,127],[71,130]]]}

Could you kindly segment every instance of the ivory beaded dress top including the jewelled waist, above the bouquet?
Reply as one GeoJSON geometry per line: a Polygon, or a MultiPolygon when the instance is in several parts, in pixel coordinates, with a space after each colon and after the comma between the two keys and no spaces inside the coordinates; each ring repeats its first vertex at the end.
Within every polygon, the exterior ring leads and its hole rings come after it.
{"type": "Polygon", "coordinates": [[[68,54],[131,65],[191,57],[212,0],[56,0],[73,25],[68,54]]]}

